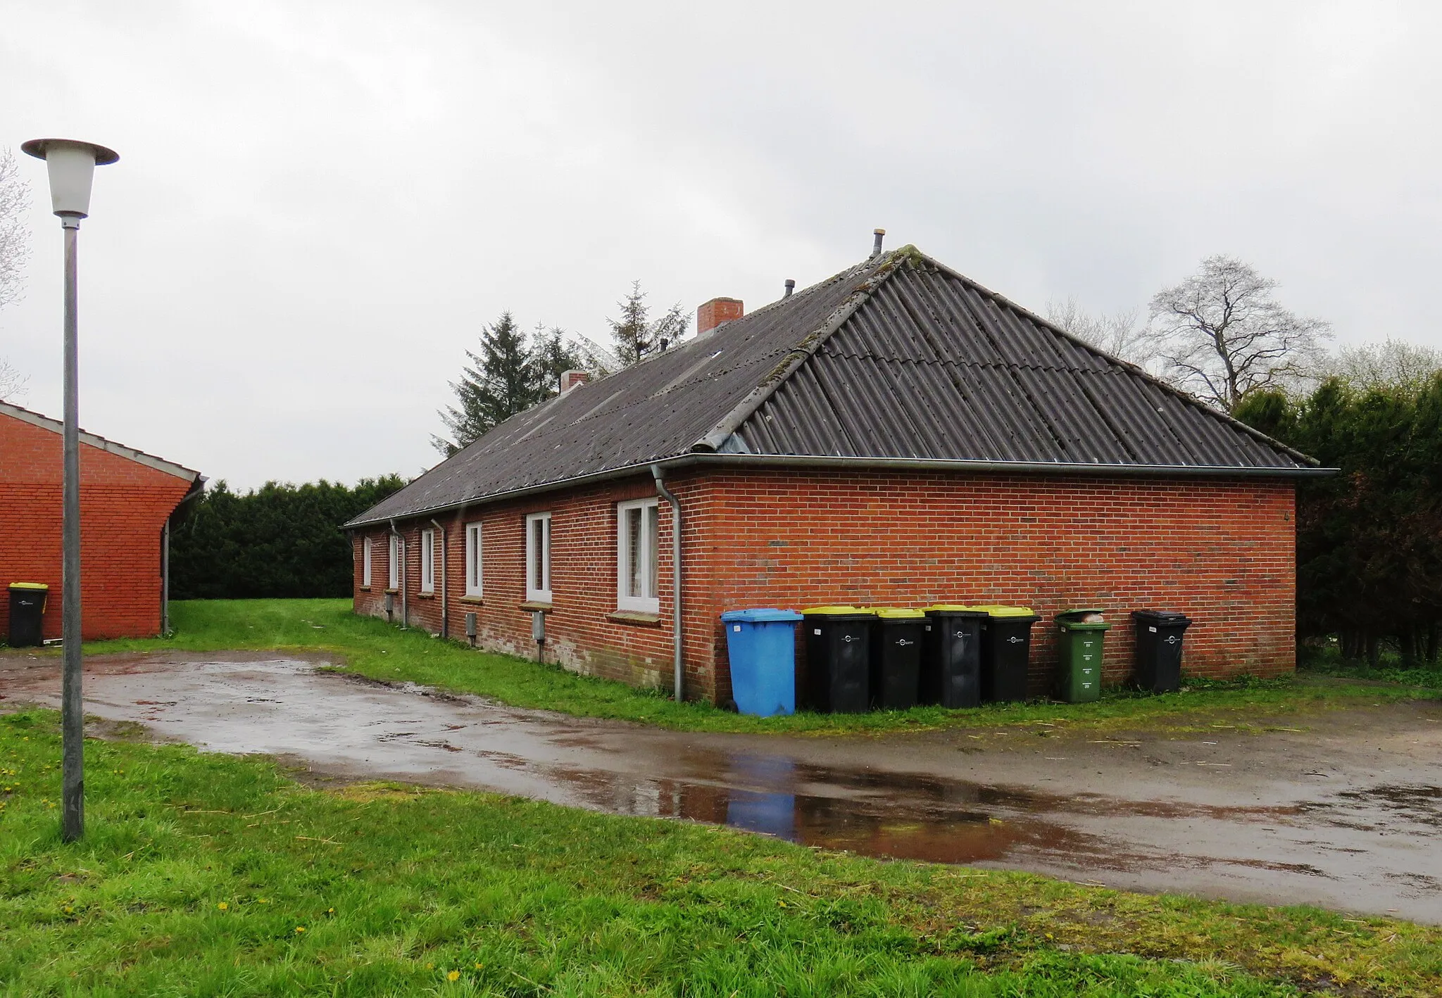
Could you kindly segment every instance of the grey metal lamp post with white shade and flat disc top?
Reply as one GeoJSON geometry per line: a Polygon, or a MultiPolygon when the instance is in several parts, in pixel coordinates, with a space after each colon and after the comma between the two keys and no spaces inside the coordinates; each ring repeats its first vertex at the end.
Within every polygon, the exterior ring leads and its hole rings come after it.
{"type": "Polygon", "coordinates": [[[104,146],[71,138],[32,138],[22,150],[45,160],[50,175],[50,208],[65,231],[65,557],[62,614],[65,665],[61,672],[61,838],[74,842],[85,831],[85,708],[81,699],[81,427],[79,348],[76,345],[75,237],[89,215],[97,166],[120,159],[104,146]]]}

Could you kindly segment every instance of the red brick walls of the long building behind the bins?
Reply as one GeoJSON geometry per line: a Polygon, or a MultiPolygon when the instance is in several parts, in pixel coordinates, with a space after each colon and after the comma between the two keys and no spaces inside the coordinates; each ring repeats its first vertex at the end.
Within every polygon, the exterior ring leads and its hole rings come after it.
{"type": "MultiPolygon", "coordinates": [[[[668,482],[686,516],[685,665],[691,695],[730,697],[718,616],[746,606],[822,603],[924,606],[1019,603],[1040,614],[1031,689],[1048,689],[1057,656],[1051,616],[1110,609],[1109,681],[1131,671],[1128,611],[1181,610],[1185,668],[1207,676],[1278,675],[1295,663],[1295,489],[1279,479],[975,476],[734,470],[668,482]]],[[[525,516],[551,512],[552,594],[547,653],[567,668],[671,686],[671,515],[660,503],[660,614],[614,619],[616,508],[653,496],[650,480],[477,506],[447,528],[450,635],[477,614],[482,648],[534,655],[525,599],[525,516]],[[464,591],[464,524],[485,534],[485,599],[464,591]]],[[[430,524],[424,524],[428,526],[430,524]]],[[[411,624],[438,632],[435,596],[421,596],[420,521],[408,539],[411,624]]],[[[384,614],[388,541],[372,531],[372,587],[359,613],[384,614]]],[[[437,532],[438,544],[438,532],[437,532]]],[[[395,601],[399,619],[399,596],[395,601]]],[[[800,659],[797,659],[800,661],[800,659]]]]}

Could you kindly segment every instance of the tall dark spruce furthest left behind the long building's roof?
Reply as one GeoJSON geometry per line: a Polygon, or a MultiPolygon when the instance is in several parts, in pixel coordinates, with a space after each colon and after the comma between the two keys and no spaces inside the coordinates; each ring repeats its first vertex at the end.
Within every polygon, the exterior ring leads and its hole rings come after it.
{"type": "Polygon", "coordinates": [[[466,350],[466,356],[470,365],[460,381],[450,382],[457,404],[440,410],[450,438],[431,438],[447,457],[539,398],[536,359],[509,310],[482,330],[480,352],[466,350]]]}

